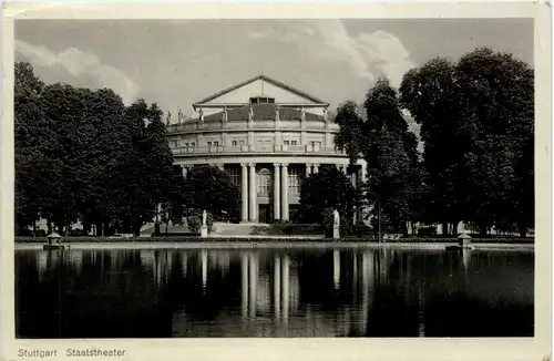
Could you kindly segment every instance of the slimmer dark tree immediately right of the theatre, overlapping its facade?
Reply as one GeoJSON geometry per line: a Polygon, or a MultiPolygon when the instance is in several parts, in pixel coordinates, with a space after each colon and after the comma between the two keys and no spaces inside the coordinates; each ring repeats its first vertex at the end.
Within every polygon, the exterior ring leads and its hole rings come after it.
{"type": "Polygon", "coordinates": [[[363,156],[370,169],[366,200],[376,212],[380,208],[396,231],[406,234],[406,221],[416,217],[421,185],[417,140],[409,132],[397,92],[387,80],[379,80],[368,91],[363,107],[365,121],[352,102],[338,109],[337,145],[349,154],[351,162],[363,156]]]}

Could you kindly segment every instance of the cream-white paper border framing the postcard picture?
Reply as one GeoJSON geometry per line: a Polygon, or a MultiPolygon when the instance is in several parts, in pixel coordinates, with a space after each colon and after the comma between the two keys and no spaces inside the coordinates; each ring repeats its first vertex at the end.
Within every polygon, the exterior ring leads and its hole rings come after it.
{"type": "MultiPolygon", "coordinates": [[[[96,347],[126,350],[127,360],[542,360],[550,355],[552,316],[551,14],[543,2],[435,3],[60,3],[4,4],[2,41],[0,231],[2,239],[1,360],[20,348],[96,347]],[[16,340],[13,288],[13,22],[18,19],[413,19],[535,20],[535,337],[530,339],[155,339],[16,340]]],[[[455,39],[453,39],[455,41],[455,39]]],[[[40,300],[38,300],[40,301],[40,300]]],[[[452,310],[455,312],[455,310],[452,310]]],[[[61,358],[59,358],[61,359],[61,358]]]]}

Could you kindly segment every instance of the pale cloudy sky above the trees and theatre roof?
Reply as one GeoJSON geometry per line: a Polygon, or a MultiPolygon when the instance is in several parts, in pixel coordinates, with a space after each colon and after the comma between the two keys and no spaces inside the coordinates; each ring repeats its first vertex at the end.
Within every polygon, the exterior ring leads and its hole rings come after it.
{"type": "Polygon", "coordinates": [[[334,111],[380,76],[398,86],[479,47],[533,65],[533,20],[18,20],[14,47],[47,84],[110,87],[173,114],[195,116],[192,103],[260,73],[334,111]]]}

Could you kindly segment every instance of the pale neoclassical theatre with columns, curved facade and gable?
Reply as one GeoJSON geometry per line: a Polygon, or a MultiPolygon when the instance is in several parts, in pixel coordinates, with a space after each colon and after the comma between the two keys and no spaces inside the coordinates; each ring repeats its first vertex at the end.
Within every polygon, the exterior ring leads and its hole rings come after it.
{"type": "Polygon", "coordinates": [[[305,176],[324,165],[340,168],[355,185],[366,163],[349,166],[335,146],[329,103],[258,75],[193,104],[195,118],[167,120],[175,165],[214,165],[240,187],[244,223],[295,220],[305,176]]]}

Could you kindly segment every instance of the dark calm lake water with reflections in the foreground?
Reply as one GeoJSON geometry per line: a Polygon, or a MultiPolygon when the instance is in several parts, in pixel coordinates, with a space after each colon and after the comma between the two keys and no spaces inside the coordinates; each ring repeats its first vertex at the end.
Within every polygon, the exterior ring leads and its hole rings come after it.
{"type": "Polygon", "coordinates": [[[17,251],[19,338],[532,337],[533,251],[17,251]]]}

